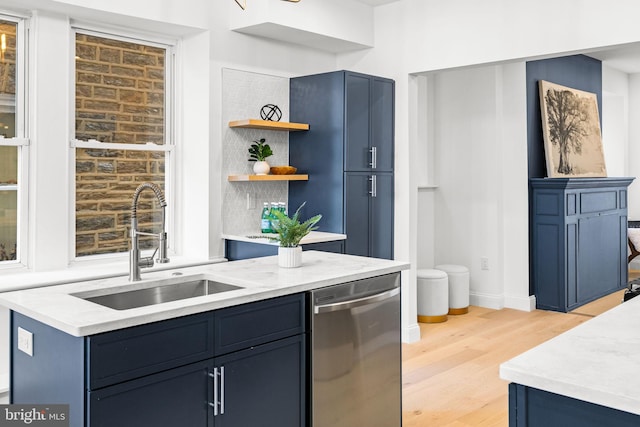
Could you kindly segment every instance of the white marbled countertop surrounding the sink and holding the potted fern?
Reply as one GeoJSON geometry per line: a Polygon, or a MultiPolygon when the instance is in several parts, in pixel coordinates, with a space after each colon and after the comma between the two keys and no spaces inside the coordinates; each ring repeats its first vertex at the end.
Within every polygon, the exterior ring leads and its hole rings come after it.
{"type": "Polygon", "coordinates": [[[65,285],[6,292],[0,305],[74,336],[126,328],[186,316],[252,301],[305,292],[325,286],[395,273],[409,263],[328,252],[304,251],[302,266],[280,268],[276,256],[196,267],[145,272],[142,280],[128,277],[91,280],[65,285]],[[158,285],[158,281],[208,279],[241,289],[162,304],[115,310],[74,296],[99,296],[158,285]]]}

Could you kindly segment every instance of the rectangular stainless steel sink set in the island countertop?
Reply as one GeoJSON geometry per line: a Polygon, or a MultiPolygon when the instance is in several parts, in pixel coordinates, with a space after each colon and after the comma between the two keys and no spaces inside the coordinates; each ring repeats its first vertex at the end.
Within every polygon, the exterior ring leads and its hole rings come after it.
{"type": "Polygon", "coordinates": [[[227,285],[226,283],[203,279],[179,282],[170,285],[158,285],[145,289],[137,289],[135,291],[120,291],[93,297],[82,297],[80,295],[75,296],[115,310],[128,310],[130,308],[162,304],[163,302],[212,295],[236,289],[242,288],[239,286],[227,285]]]}

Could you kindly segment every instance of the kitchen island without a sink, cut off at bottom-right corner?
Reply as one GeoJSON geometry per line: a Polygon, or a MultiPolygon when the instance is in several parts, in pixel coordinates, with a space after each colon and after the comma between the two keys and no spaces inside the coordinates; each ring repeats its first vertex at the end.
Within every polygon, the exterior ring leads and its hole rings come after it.
{"type": "Polygon", "coordinates": [[[500,366],[510,427],[640,425],[640,298],[500,366]]]}

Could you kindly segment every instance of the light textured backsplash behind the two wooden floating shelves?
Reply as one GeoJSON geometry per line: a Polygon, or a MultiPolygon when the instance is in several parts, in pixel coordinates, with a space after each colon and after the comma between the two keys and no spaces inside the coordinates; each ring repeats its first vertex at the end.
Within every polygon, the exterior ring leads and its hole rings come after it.
{"type": "Polygon", "coordinates": [[[228,182],[228,175],[252,174],[247,150],[252,141],[265,138],[273,156],[271,166],[289,163],[289,134],[271,130],[229,128],[233,120],[260,119],[260,109],[275,104],[281,121],[289,120],[289,79],[246,71],[222,70],[222,229],[225,234],[259,233],[263,202],[287,202],[288,184],[276,182],[228,182]],[[255,209],[247,209],[247,194],[255,209]]]}

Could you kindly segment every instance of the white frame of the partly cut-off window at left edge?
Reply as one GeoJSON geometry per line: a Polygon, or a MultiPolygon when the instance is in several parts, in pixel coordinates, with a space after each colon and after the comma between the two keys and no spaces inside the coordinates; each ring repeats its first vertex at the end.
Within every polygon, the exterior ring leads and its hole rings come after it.
{"type": "Polygon", "coordinates": [[[10,261],[0,261],[0,270],[24,268],[28,265],[27,248],[29,211],[28,211],[28,165],[29,165],[29,135],[28,135],[28,80],[27,80],[27,57],[28,57],[28,17],[19,14],[5,13],[0,11],[0,19],[16,24],[16,94],[15,113],[16,136],[13,138],[0,138],[0,146],[17,147],[18,150],[18,184],[15,191],[18,194],[17,200],[17,233],[16,233],[16,259],[10,261]]]}

